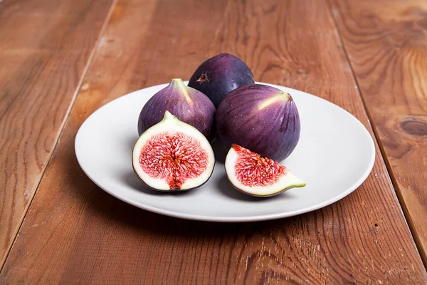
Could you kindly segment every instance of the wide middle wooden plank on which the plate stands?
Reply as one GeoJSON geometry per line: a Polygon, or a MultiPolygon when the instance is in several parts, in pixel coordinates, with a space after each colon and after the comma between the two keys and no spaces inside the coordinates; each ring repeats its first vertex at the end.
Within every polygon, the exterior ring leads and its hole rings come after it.
{"type": "Polygon", "coordinates": [[[94,110],[132,90],[189,78],[220,52],[241,56],[258,81],[332,100],[370,130],[324,1],[119,0],[101,43],[1,284],[427,282],[379,152],[352,195],[248,224],[145,212],[100,190],[75,160],[75,133],[94,110]]]}

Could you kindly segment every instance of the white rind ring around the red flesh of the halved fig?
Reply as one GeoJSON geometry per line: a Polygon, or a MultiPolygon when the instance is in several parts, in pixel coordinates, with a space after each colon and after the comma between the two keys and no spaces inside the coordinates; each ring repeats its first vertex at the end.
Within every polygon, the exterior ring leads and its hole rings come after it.
{"type": "MultiPolygon", "coordinates": [[[[191,157],[191,159],[195,159],[191,157]]],[[[156,163],[156,162],[147,162],[147,163],[156,163]]],[[[174,115],[167,112],[162,120],[157,125],[152,126],[146,130],[137,140],[134,150],[132,152],[132,165],[134,167],[137,175],[149,186],[157,190],[189,190],[191,188],[199,187],[204,184],[209,177],[211,177],[212,171],[214,170],[215,157],[214,151],[212,150],[209,141],[206,140],[204,135],[202,135],[199,130],[188,125],[186,123],[178,120],[174,115]],[[171,189],[169,182],[165,178],[155,178],[152,174],[144,172],[142,165],[139,162],[139,157],[141,156],[141,151],[144,149],[144,146],[150,141],[156,140],[157,137],[163,135],[184,135],[189,141],[199,144],[201,150],[206,152],[206,167],[197,177],[189,177],[184,180],[184,183],[179,187],[179,189],[171,189]]],[[[171,171],[166,169],[165,171],[171,171]]]]}

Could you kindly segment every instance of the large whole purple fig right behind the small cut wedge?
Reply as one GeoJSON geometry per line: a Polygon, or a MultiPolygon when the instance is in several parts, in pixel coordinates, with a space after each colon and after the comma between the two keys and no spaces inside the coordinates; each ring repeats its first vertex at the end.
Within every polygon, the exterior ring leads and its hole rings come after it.
{"type": "Polygon", "coordinates": [[[226,95],[216,111],[216,129],[227,147],[236,143],[280,162],[295,149],[301,126],[288,93],[253,84],[226,95]]]}

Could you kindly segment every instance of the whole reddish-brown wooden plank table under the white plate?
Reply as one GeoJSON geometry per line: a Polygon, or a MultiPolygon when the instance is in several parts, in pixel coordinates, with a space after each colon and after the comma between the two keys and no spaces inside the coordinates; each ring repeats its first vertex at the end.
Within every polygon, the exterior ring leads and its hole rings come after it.
{"type": "Polygon", "coordinates": [[[426,185],[425,0],[2,3],[0,284],[426,284],[426,185]],[[84,175],[90,113],[221,52],[361,120],[376,141],[364,184],[308,214],[221,224],[145,212],[84,175]]]}

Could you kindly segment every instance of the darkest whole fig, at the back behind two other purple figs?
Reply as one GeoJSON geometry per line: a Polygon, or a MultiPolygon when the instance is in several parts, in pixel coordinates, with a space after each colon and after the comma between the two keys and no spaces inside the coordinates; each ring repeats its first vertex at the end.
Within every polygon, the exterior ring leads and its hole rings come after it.
{"type": "Polygon", "coordinates": [[[252,71],[246,63],[237,56],[221,53],[201,63],[191,76],[189,86],[206,94],[218,108],[228,93],[253,83],[252,71]]]}

